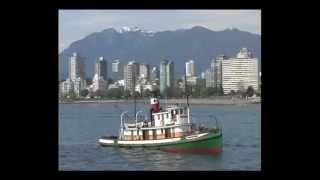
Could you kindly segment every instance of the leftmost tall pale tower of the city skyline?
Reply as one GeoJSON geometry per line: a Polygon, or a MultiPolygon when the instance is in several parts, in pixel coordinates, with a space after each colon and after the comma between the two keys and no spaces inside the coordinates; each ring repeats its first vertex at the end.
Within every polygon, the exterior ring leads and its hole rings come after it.
{"type": "Polygon", "coordinates": [[[79,77],[85,78],[84,61],[78,53],[73,53],[69,62],[69,78],[75,81],[79,77]]]}

